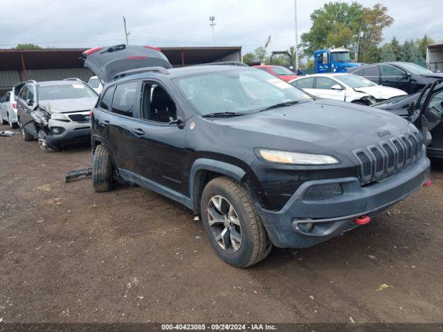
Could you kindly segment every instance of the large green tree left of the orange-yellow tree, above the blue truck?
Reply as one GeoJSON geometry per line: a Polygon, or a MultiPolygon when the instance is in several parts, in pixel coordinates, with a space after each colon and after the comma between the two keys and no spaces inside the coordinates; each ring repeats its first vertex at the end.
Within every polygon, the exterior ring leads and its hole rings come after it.
{"type": "Polygon", "coordinates": [[[362,15],[363,6],[356,2],[329,2],[314,10],[311,29],[301,35],[305,55],[311,56],[320,48],[348,47],[356,42],[354,35],[359,32],[362,15]]]}

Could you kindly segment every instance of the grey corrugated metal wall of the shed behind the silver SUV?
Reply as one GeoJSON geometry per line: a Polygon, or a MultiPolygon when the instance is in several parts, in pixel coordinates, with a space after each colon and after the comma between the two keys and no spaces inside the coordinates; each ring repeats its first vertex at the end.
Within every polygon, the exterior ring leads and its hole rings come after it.
{"type": "MultiPolygon", "coordinates": [[[[29,80],[53,81],[63,80],[68,77],[78,77],[84,82],[88,82],[89,77],[93,76],[89,68],[60,68],[60,69],[30,69],[28,72],[29,80]]],[[[0,91],[6,91],[12,88],[14,84],[23,81],[24,73],[19,71],[0,71],[0,91]]]]}

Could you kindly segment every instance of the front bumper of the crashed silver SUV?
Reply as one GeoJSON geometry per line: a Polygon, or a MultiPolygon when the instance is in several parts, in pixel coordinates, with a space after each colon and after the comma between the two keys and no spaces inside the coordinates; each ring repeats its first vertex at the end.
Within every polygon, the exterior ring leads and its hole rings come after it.
{"type": "Polygon", "coordinates": [[[50,134],[48,134],[46,140],[49,145],[60,145],[77,140],[91,139],[90,122],[67,122],[50,119],[48,120],[48,129],[50,134]],[[62,128],[64,131],[56,135],[53,133],[54,128],[62,128]]]}

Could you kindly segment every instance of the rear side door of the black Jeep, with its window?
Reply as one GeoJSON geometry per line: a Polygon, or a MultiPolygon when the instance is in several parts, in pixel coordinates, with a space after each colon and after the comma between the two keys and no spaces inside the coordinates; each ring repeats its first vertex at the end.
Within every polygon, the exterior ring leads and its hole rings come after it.
{"type": "Polygon", "coordinates": [[[100,137],[109,146],[120,172],[123,176],[136,174],[132,128],[134,116],[138,118],[136,93],[138,81],[129,81],[110,86],[98,104],[98,131],[100,137]]]}

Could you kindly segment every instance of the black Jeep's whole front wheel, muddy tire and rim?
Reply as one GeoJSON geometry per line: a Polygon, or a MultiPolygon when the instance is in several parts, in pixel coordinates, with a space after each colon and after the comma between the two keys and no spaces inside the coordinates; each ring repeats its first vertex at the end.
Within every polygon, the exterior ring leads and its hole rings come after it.
{"type": "Polygon", "coordinates": [[[269,255],[272,244],[244,185],[225,176],[213,179],[203,190],[200,209],[210,243],[228,264],[246,268],[269,255]]]}

